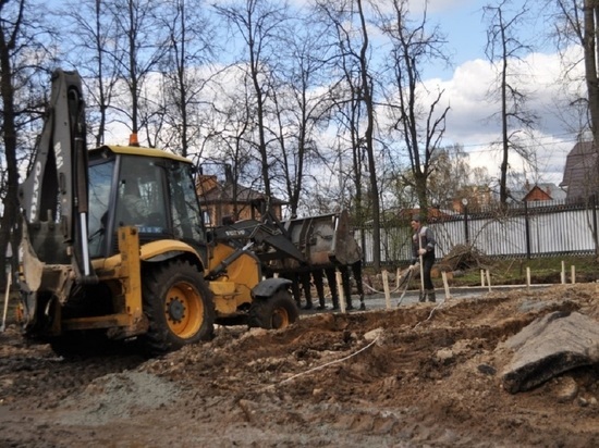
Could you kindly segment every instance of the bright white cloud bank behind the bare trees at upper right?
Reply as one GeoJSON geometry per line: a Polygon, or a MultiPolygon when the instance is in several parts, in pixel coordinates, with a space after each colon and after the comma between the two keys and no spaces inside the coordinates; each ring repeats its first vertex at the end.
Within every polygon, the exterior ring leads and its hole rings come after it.
{"type": "MultiPolygon", "coordinates": [[[[571,49],[571,60],[576,59],[577,49],[571,49]]],[[[538,174],[527,171],[529,182],[553,182],[559,184],[565,164],[565,157],[572,149],[579,130],[575,111],[567,110],[569,95],[579,91],[582,67],[572,74],[574,80],[564,84],[560,57],[550,53],[531,53],[525,61],[511,61],[521,76],[516,82],[522,91],[529,95],[528,107],[539,116],[534,137],[527,146],[537,153],[538,174]]],[[[476,59],[455,69],[448,80],[431,78],[425,85],[430,95],[444,90],[445,104],[451,107],[447,119],[445,142],[461,144],[470,152],[473,166],[485,166],[492,176],[498,176],[500,154],[492,149],[492,142],[501,136],[501,123],[497,114],[499,104],[489,97],[489,86],[496,79],[496,72],[488,61],[476,59]]],[[[524,171],[525,163],[517,155],[510,155],[514,171],[524,171]]]]}

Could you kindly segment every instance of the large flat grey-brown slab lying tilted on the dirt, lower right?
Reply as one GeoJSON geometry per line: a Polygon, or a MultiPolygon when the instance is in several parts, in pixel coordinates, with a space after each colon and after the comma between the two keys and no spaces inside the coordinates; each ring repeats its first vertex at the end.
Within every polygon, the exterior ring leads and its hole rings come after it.
{"type": "Polygon", "coordinates": [[[514,350],[502,373],[503,387],[529,390],[571,369],[599,361],[599,323],[577,312],[553,312],[505,341],[514,350]]]}

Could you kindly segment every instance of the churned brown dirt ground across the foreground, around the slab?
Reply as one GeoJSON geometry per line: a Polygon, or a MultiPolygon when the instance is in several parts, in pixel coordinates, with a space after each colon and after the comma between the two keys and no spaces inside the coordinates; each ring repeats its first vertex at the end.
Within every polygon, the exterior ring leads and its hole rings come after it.
{"type": "MultiPolygon", "coordinates": [[[[366,302],[368,306],[368,302],[366,302]]],[[[0,334],[1,447],[597,447],[599,366],[515,395],[503,345],[599,285],[219,327],[160,359],[64,360],[0,334]]]]}

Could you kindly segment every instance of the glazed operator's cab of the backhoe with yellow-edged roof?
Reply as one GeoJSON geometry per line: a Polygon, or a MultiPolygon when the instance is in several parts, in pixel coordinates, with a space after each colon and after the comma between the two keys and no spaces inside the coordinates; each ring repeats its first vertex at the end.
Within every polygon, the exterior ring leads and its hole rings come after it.
{"type": "Polygon", "coordinates": [[[135,226],[139,242],[205,242],[193,165],[168,152],[100,147],[89,152],[89,254],[118,252],[119,227],[135,226]]]}

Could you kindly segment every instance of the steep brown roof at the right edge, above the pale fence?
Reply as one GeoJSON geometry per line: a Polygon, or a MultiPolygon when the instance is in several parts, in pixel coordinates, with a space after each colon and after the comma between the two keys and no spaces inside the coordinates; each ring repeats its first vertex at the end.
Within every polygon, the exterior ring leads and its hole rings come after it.
{"type": "Polygon", "coordinates": [[[587,198],[597,191],[597,149],[592,141],[578,141],[567,154],[564,177],[560,187],[567,190],[567,199],[587,198]]]}

